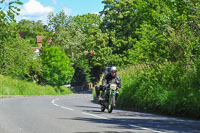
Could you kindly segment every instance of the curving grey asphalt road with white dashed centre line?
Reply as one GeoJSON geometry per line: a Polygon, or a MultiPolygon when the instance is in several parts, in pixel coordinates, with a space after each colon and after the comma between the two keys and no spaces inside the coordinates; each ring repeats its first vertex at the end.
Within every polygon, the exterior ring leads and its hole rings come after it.
{"type": "Polygon", "coordinates": [[[200,133],[200,121],[114,109],[91,92],[0,99],[0,133],[200,133]]]}

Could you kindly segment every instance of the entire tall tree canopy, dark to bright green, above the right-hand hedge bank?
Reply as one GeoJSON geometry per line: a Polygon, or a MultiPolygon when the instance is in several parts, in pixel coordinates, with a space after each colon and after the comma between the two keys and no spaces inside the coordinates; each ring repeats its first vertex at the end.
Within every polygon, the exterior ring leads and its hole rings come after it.
{"type": "Polygon", "coordinates": [[[123,62],[176,61],[198,51],[199,1],[104,0],[103,3],[101,29],[109,33],[109,45],[113,46],[114,54],[123,57],[123,62]]]}

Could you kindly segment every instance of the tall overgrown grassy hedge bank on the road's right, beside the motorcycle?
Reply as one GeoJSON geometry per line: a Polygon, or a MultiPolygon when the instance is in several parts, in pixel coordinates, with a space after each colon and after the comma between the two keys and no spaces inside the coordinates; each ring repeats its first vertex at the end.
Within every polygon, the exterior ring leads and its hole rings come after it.
{"type": "MultiPolygon", "coordinates": [[[[154,64],[155,65],[155,64],[154,64]]],[[[172,116],[200,118],[199,63],[182,66],[134,65],[122,69],[118,107],[172,116]]]]}

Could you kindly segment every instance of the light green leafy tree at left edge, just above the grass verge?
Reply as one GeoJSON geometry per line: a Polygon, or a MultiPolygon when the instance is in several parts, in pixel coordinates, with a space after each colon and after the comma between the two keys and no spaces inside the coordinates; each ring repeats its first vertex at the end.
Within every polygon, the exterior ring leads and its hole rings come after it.
{"type": "Polygon", "coordinates": [[[7,41],[4,43],[4,50],[1,53],[1,73],[31,80],[30,72],[35,69],[39,70],[40,67],[39,62],[35,62],[33,59],[34,53],[29,43],[21,39],[19,35],[16,35],[16,39],[8,38],[7,41]]]}

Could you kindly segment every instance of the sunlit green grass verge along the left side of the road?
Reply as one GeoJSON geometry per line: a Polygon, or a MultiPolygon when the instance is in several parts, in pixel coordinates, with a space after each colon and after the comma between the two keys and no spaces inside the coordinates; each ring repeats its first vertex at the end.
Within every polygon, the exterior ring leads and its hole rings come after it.
{"type": "Polygon", "coordinates": [[[64,86],[61,86],[61,91],[56,91],[56,89],[52,86],[41,86],[33,82],[12,79],[10,77],[0,75],[0,95],[42,96],[64,95],[70,93],[73,92],[64,86]]]}

